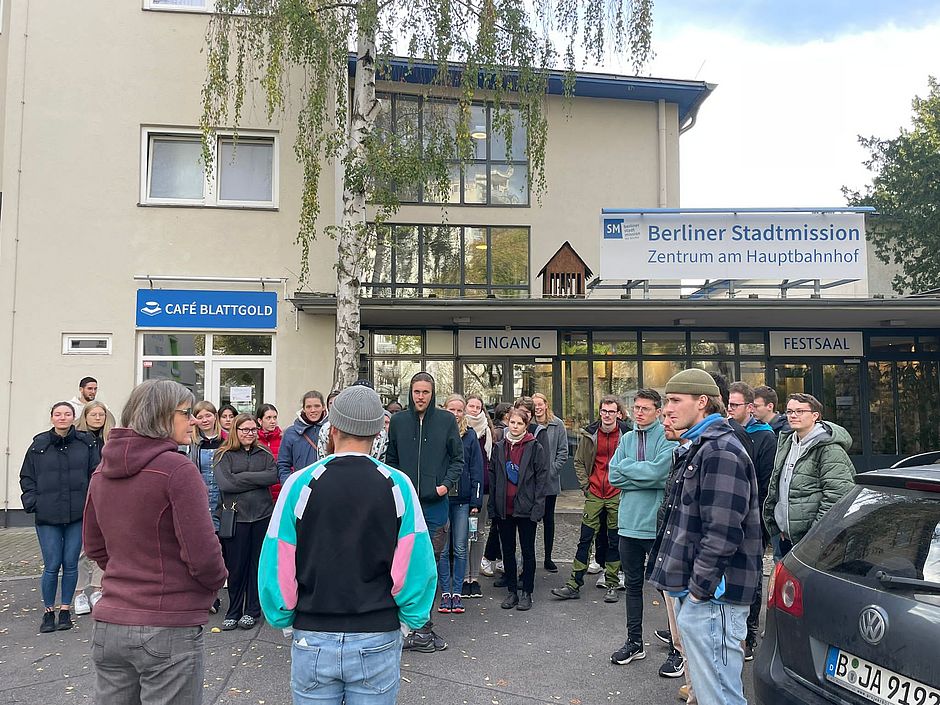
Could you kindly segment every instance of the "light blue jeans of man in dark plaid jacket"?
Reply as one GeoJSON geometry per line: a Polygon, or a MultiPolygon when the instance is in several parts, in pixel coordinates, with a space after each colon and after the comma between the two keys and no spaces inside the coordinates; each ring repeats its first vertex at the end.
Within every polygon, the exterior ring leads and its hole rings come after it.
{"type": "Polygon", "coordinates": [[[741,669],[749,605],[676,599],[676,622],[701,705],[747,705],[741,669]]]}

